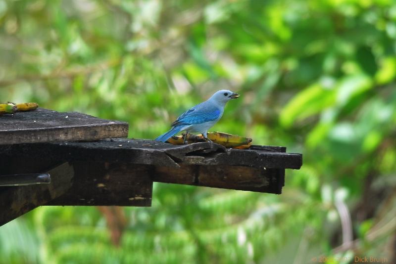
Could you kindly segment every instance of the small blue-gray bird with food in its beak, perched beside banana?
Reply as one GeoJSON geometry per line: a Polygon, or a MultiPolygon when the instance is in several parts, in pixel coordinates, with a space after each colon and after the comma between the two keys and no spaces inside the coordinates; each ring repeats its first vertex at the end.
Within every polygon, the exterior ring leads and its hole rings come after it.
{"type": "Polygon", "coordinates": [[[207,141],[210,141],[210,139],[207,138],[208,129],[220,120],[226,103],[238,97],[238,93],[229,90],[216,91],[209,99],[197,104],[179,116],[176,121],[172,123],[172,129],[158,136],[155,140],[165,142],[178,132],[186,131],[184,137],[185,142],[189,132],[202,133],[203,137],[207,141]]]}

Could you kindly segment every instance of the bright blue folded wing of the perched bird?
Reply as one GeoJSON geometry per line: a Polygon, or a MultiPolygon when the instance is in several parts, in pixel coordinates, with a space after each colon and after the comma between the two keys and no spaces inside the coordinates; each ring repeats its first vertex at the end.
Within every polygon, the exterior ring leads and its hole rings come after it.
{"type": "Polygon", "coordinates": [[[175,122],[172,123],[172,127],[181,125],[193,125],[201,124],[208,121],[216,120],[220,117],[220,109],[212,111],[200,110],[197,108],[191,108],[184,112],[175,122]]]}

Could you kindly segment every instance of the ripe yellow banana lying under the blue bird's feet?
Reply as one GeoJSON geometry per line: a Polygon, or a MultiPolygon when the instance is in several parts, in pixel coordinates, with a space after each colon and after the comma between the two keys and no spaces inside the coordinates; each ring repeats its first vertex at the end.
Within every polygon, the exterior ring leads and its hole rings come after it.
{"type": "MultiPolygon", "coordinates": [[[[223,145],[227,148],[246,149],[249,148],[251,144],[251,138],[222,132],[208,132],[207,137],[212,140],[213,143],[223,145]]],[[[172,136],[168,139],[168,142],[175,145],[182,145],[183,139],[184,135],[172,136]]],[[[205,142],[205,139],[201,134],[195,135],[189,133],[187,136],[187,141],[189,143],[196,143],[205,142]]]]}

